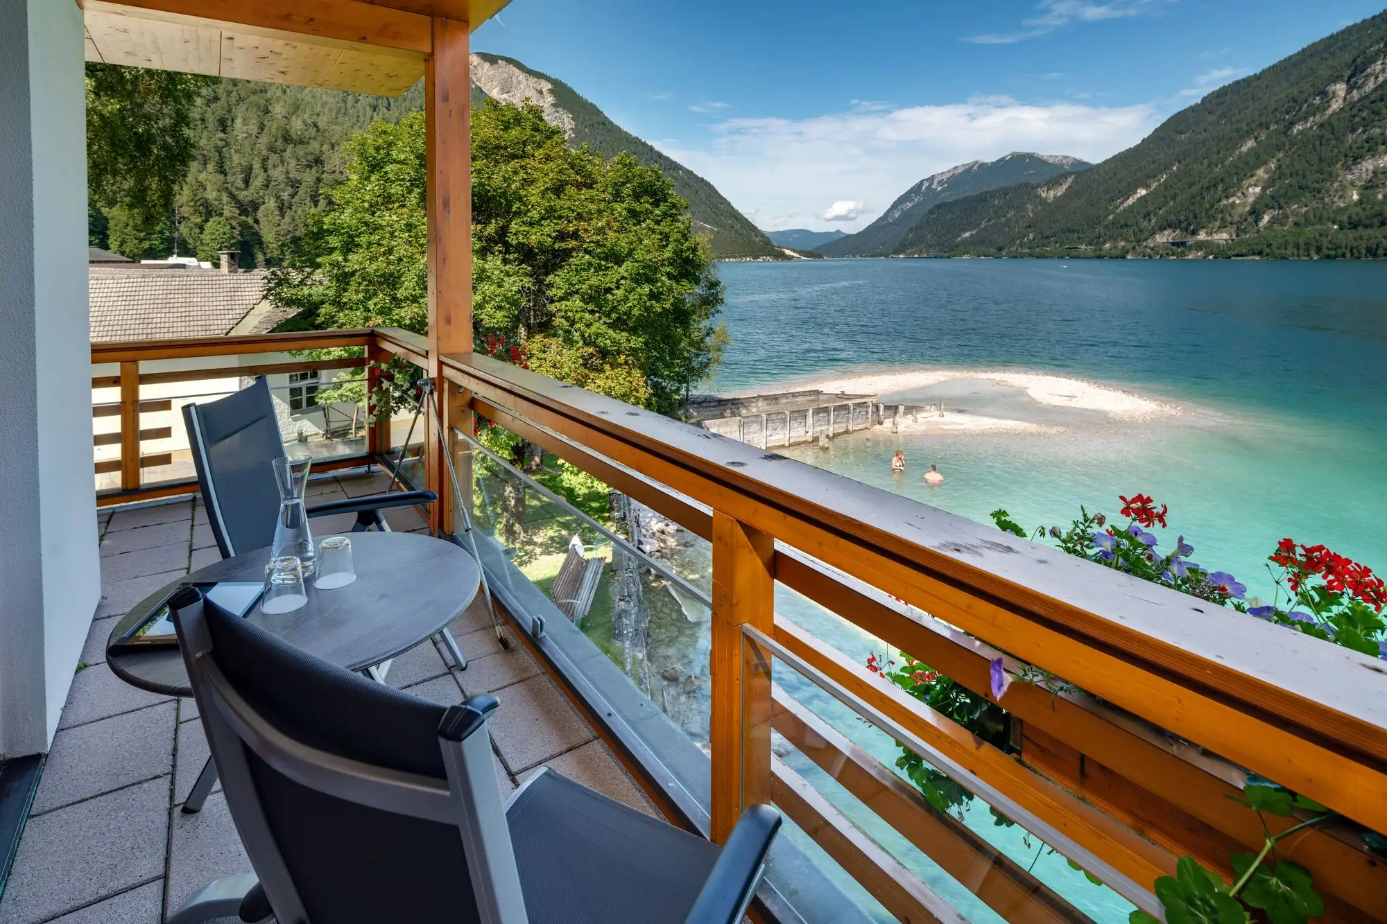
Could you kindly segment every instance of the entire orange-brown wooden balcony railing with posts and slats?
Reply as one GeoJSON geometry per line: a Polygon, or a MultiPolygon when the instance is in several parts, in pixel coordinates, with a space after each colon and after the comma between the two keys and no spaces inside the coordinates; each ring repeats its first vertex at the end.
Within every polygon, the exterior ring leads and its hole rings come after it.
{"type": "MultiPolygon", "coordinates": [[[[237,348],[363,345],[372,362],[427,369],[413,334],[322,337],[336,340],[237,348]]],[[[191,348],[119,344],[93,359],[230,352],[222,340],[180,352],[191,348]]],[[[773,756],[774,730],[1003,918],[1087,920],[778,688],[773,670],[807,678],[1157,914],[1154,881],[1179,857],[1232,880],[1230,856],[1261,848],[1258,816],[1229,799],[1247,771],[1387,831],[1383,662],[487,357],[444,355],[438,368],[445,431],[470,431],[470,415],[484,415],[712,542],[714,839],[746,805],[771,801],[900,920],[961,920],[773,756]],[[1004,752],[777,616],[777,583],[979,695],[1001,651],[1082,692],[1011,684],[1004,752]]],[[[121,369],[122,423],[137,429],[139,395],[125,382],[139,370],[121,369]]],[[[451,488],[434,461],[429,479],[447,526],[451,488]]],[[[1266,821],[1276,834],[1297,819],[1266,821]]],[[[1326,898],[1326,920],[1387,920],[1387,867],[1348,824],[1287,845],[1326,898]]]]}

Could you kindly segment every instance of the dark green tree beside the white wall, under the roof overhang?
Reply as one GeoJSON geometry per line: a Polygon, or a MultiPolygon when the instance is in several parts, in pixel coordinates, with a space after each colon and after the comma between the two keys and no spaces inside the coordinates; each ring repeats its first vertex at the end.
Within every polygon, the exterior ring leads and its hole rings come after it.
{"type": "Polygon", "coordinates": [[[173,194],[193,158],[189,125],[204,83],[172,71],[86,65],[93,246],[139,259],[171,243],[173,194]]]}

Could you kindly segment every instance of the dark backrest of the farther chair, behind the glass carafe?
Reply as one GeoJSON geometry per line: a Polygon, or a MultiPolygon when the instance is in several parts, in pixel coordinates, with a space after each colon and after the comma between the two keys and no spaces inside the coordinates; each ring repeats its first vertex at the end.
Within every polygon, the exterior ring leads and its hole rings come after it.
{"type": "Polygon", "coordinates": [[[187,443],[222,558],[275,541],[279,487],[270,462],[284,455],[265,376],[236,394],[183,405],[187,443]]]}

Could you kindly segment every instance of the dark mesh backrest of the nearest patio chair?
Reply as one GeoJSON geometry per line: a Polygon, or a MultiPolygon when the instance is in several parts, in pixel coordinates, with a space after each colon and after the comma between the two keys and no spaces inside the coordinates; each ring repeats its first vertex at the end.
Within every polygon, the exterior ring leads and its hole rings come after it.
{"type": "Polygon", "coordinates": [[[196,590],[179,644],[227,807],[279,921],[526,920],[485,719],[329,665],[196,590]]]}

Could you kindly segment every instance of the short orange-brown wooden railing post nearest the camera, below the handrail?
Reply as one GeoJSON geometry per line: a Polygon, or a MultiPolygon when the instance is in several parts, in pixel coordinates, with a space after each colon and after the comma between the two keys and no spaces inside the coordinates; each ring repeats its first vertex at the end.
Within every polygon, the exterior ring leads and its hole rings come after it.
{"type": "Polygon", "coordinates": [[[724,844],[742,810],[770,802],[770,656],[742,635],[774,631],[775,541],[713,513],[713,841],[724,844]]]}

